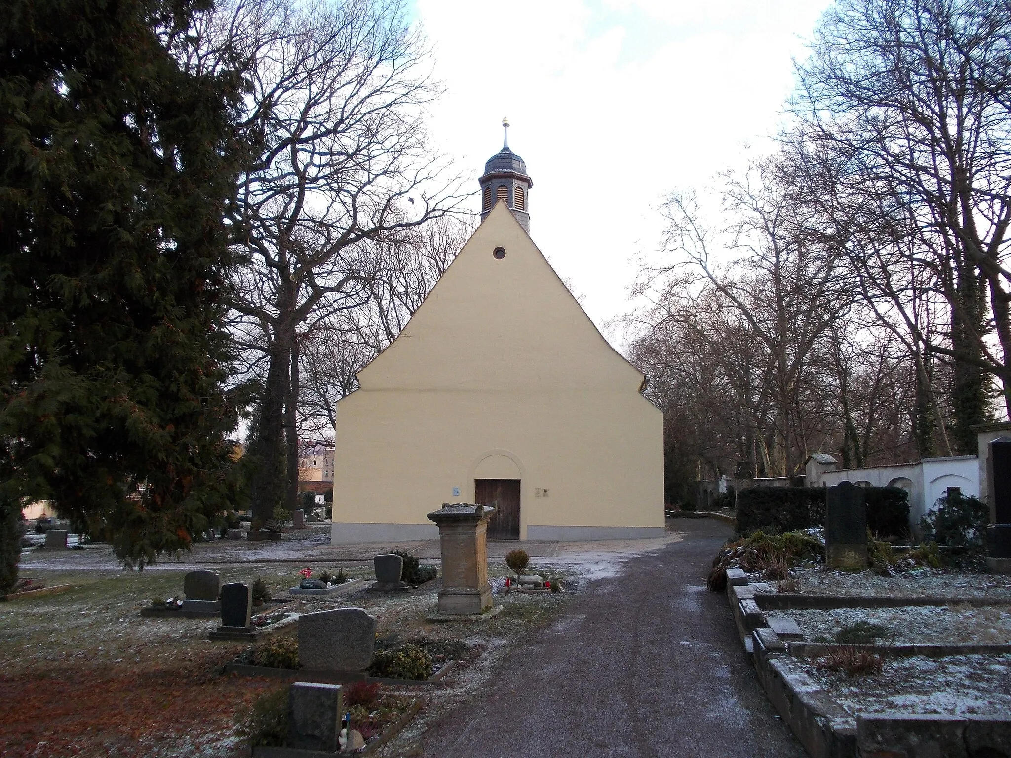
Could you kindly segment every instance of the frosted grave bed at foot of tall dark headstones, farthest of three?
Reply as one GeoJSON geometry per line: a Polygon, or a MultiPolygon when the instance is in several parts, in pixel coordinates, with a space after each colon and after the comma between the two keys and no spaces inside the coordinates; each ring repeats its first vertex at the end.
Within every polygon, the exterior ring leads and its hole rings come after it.
{"type": "Polygon", "coordinates": [[[791,576],[800,581],[800,591],[807,594],[997,597],[1011,602],[1011,576],[1000,574],[919,568],[879,576],[870,571],[847,573],[807,566],[793,569],[791,576]]]}

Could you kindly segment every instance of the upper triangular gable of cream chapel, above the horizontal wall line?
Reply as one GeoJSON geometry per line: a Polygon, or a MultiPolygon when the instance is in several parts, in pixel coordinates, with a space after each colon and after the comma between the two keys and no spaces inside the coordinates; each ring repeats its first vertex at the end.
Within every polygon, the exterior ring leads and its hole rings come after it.
{"type": "Polygon", "coordinates": [[[365,390],[638,390],[505,203],[496,203],[399,337],[358,375],[365,390]],[[496,248],[504,257],[493,255],[496,248]]]}

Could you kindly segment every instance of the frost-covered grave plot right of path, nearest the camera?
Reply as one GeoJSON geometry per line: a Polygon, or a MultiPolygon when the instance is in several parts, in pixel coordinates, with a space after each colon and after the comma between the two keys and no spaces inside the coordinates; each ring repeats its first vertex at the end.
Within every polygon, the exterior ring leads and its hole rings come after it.
{"type": "Polygon", "coordinates": [[[892,712],[1006,718],[1011,712],[1011,655],[890,659],[880,674],[858,677],[803,665],[854,716],[892,712]]]}

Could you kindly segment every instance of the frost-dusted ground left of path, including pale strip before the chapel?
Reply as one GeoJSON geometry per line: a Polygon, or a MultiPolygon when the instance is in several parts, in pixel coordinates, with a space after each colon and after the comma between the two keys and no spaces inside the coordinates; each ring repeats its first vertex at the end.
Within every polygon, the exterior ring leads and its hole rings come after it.
{"type": "MultiPolygon", "coordinates": [[[[507,654],[562,614],[589,581],[617,575],[629,559],[679,539],[668,533],[662,540],[552,546],[544,551],[548,555],[533,556],[530,572],[561,578],[567,591],[496,594],[494,602],[502,612],[474,624],[427,621],[438,601],[435,582],[405,594],[301,596],[295,610],[363,607],[376,617],[380,635],[458,640],[469,646],[446,687],[403,691],[422,697],[424,707],[381,755],[409,754],[429,725],[486,686],[507,654]]],[[[0,604],[0,702],[18,703],[0,719],[0,754],[248,755],[239,731],[243,714],[259,694],[282,685],[222,675],[223,664],[248,646],[207,640],[216,622],[145,619],[140,610],[154,600],[181,595],[183,575],[191,568],[213,568],[224,582],[252,583],[262,576],[273,594],[283,597],[305,564],[314,572],[344,568],[349,578],[371,579],[370,560],[327,563],[327,556],[351,551],[371,556],[391,547],[334,547],[329,540],[329,529],[317,529],[285,535],[281,543],[197,545],[182,562],[164,561],[144,572],[118,570],[111,551],[102,546],[24,551],[22,576],[75,588],[0,604]]],[[[410,547],[419,550],[423,543],[410,547]]],[[[488,573],[497,585],[510,571],[501,558],[491,558],[488,573]]],[[[293,635],[295,628],[277,634],[293,635]]]]}

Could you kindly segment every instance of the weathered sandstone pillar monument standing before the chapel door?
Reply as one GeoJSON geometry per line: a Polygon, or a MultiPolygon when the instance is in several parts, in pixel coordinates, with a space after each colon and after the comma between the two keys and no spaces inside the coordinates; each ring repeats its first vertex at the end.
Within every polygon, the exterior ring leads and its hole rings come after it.
{"type": "Polygon", "coordinates": [[[443,588],[440,615],[474,615],[491,607],[488,584],[488,522],[490,505],[444,503],[429,518],[439,525],[443,588]]]}

